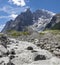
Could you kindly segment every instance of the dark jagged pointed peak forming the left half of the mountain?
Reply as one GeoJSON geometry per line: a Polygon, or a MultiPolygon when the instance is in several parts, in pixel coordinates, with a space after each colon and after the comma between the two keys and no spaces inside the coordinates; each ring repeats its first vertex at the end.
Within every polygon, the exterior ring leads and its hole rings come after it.
{"type": "Polygon", "coordinates": [[[2,32],[6,32],[8,30],[23,31],[25,26],[33,24],[32,18],[32,12],[28,9],[26,12],[22,12],[18,15],[14,21],[8,21],[2,32]]]}

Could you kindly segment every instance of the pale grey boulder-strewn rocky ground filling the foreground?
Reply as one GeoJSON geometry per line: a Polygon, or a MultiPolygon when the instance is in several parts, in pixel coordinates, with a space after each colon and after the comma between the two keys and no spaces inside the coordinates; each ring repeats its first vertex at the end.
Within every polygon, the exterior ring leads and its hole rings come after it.
{"type": "Polygon", "coordinates": [[[1,35],[0,65],[60,65],[60,33],[35,35],[38,34],[34,33],[30,42],[1,35]]]}

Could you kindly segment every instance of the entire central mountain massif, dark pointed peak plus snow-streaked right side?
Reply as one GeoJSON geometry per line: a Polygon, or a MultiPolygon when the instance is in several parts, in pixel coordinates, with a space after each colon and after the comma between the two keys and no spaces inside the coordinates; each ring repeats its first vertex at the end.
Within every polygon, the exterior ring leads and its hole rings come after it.
{"type": "Polygon", "coordinates": [[[50,22],[54,13],[47,10],[36,10],[31,12],[28,8],[27,11],[18,15],[15,20],[10,20],[6,23],[2,32],[8,30],[23,31],[26,27],[31,27],[35,31],[41,31],[50,22]]]}

